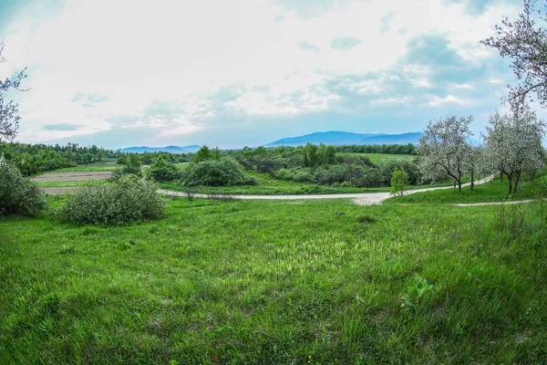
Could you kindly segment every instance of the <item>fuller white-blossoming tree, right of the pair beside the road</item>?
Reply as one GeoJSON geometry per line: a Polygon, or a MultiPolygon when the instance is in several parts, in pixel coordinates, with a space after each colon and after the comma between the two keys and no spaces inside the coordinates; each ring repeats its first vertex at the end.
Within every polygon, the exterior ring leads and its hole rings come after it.
{"type": "Polygon", "coordinates": [[[485,152],[490,169],[507,175],[509,193],[518,191],[525,170],[541,168],[544,135],[545,124],[527,105],[511,114],[496,111],[490,115],[486,134],[482,135],[485,152]]]}

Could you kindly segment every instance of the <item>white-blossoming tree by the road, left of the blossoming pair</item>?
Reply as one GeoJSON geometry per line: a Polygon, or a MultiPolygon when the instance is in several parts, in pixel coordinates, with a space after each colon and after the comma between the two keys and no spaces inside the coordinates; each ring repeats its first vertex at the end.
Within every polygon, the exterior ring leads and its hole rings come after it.
{"type": "Polygon", "coordinates": [[[439,171],[446,172],[461,191],[461,177],[471,151],[469,139],[473,135],[470,131],[472,120],[472,116],[451,116],[444,120],[429,121],[424,135],[419,139],[418,150],[424,156],[419,167],[425,179],[435,180],[439,171]]]}

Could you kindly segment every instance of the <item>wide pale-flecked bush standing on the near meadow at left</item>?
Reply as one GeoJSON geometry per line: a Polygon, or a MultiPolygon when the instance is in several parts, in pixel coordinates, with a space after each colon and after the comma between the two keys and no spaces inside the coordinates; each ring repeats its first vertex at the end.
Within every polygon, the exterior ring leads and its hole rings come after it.
{"type": "Polygon", "coordinates": [[[77,224],[129,224],[160,218],[165,210],[157,185],[134,175],[105,186],[87,186],[68,196],[61,218],[77,224]]]}

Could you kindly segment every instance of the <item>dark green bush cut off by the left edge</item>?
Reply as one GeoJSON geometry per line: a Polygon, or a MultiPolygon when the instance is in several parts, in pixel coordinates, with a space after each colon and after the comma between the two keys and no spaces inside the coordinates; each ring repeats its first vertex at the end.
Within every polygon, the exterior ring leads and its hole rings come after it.
{"type": "Polygon", "coordinates": [[[0,161],[0,215],[34,215],[46,208],[44,193],[19,169],[0,161]]]}

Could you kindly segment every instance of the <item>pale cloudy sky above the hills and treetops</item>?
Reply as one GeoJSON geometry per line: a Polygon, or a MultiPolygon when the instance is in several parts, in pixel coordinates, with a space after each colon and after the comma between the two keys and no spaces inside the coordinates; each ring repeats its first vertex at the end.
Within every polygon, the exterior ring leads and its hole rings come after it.
{"type": "MultiPolygon", "coordinates": [[[[258,146],[314,131],[402,133],[473,115],[515,84],[480,39],[520,0],[0,0],[27,68],[18,141],[258,146]]],[[[541,116],[545,113],[538,108],[541,116]]]]}

